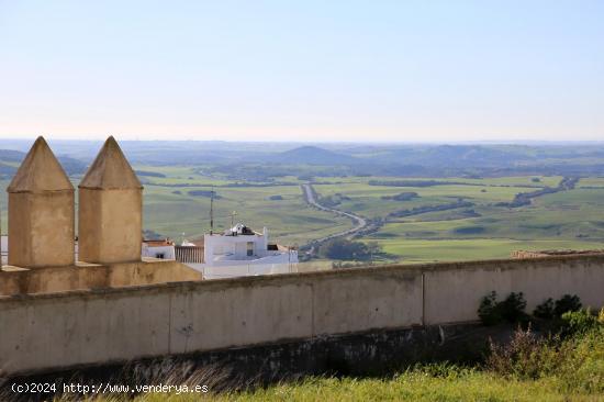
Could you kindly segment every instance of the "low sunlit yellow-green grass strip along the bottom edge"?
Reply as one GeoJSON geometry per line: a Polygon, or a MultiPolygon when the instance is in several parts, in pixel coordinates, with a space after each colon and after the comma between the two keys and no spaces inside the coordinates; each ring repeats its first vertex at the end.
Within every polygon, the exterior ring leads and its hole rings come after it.
{"type": "MultiPolygon", "coordinates": [[[[199,395],[148,395],[137,400],[198,401],[199,395]]],[[[392,379],[313,378],[256,392],[208,395],[212,401],[595,401],[551,389],[548,381],[511,381],[467,370],[451,378],[412,371],[392,379]]]]}

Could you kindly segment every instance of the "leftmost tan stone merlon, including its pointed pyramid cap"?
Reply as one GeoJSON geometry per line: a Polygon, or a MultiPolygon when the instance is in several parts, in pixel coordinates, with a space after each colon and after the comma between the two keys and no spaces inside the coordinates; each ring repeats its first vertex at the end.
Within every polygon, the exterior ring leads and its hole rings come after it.
{"type": "Polygon", "coordinates": [[[9,265],[74,265],[74,186],[43,137],[35,141],[7,192],[9,265]]]}

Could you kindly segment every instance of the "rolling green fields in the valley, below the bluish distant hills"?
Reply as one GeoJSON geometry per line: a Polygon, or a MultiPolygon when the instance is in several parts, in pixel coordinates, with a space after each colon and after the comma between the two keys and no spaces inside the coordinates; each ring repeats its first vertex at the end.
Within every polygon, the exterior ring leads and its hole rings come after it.
{"type": "MultiPolygon", "coordinates": [[[[144,228],[176,239],[198,238],[210,231],[210,191],[215,191],[214,230],[244,222],[267,226],[272,239],[302,246],[350,228],[349,219],[306,204],[293,176],[270,182],[235,181],[206,174],[202,166],[134,166],[145,186],[144,228]],[[141,175],[141,171],[143,174],[141,175]],[[145,174],[150,172],[152,176],[145,174]]],[[[604,178],[582,178],[572,190],[545,194],[528,205],[510,208],[517,193],[558,186],[560,176],[497,178],[422,178],[437,185],[396,187],[392,177],[314,178],[318,201],[379,222],[360,237],[382,247],[382,261],[403,264],[505,258],[515,249],[604,248],[604,178]],[[415,193],[406,200],[393,199],[415,193]],[[456,203],[462,203],[457,208],[456,203]],[[438,210],[439,208],[452,208],[438,210]],[[428,210],[422,210],[428,208],[428,210]],[[433,210],[430,210],[433,209],[433,210]],[[403,211],[405,213],[401,214],[403,211]],[[410,212],[411,211],[411,212],[410,212]]],[[[77,186],[78,177],[72,177],[77,186]]],[[[8,180],[2,180],[5,188],[8,180]]],[[[2,231],[7,231],[5,192],[2,231]]]]}

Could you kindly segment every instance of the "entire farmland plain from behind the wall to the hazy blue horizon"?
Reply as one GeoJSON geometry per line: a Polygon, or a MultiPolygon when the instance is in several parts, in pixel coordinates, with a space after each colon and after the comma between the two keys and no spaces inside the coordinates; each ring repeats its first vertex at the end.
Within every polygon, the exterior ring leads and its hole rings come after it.
{"type": "MultiPolygon", "coordinates": [[[[511,167],[505,160],[495,158],[499,154],[489,154],[480,147],[418,148],[401,155],[424,164],[427,167],[421,171],[428,169],[434,175],[413,176],[396,165],[401,158],[396,148],[380,152],[367,148],[360,153],[351,148],[347,150],[351,156],[340,160],[343,154],[316,147],[279,154],[287,147],[278,146],[271,150],[276,154],[270,154],[277,156],[270,156],[261,153],[262,147],[241,145],[242,154],[257,153],[258,161],[249,163],[233,159],[237,154],[231,153],[232,145],[214,144],[215,150],[190,152],[177,145],[125,144],[145,187],[146,237],[170,237],[181,242],[208,233],[210,196],[214,191],[215,232],[226,230],[232,222],[243,222],[256,231],[266,226],[271,238],[280,244],[310,248],[311,242],[354,226],[350,219],[333,212],[343,211],[367,221],[366,230],[355,239],[376,244],[380,252],[371,256],[379,263],[505,258],[516,249],[604,248],[604,177],[596,164],[601,159],[593,159],[589,147],[573,148],[574,153],[543,148],[541,154],[551,156],[545,159],[530,159],[535,152],[528,148],[499,148],[519,153],[516,157],[528,158],[527,164],[535,160],[545,164],[529,168],[530,174],[518,174],[525,168],[511,167]],[[170,150],[170,147],[178,149],[170,150]],[[202,152],[206,157],[200,157],[202,152]],[[466,158],[468,152],[472,158],[477,152],[485,152],[486,167],[472,165],[471,158],[463,159],[466,165],[459,168],[443,164],[466,158]],[[383,166],[376,161],[374,165],[356,166],[356,160],[367,164],[371,155],[378,157],[383,153],[393,153],[395,157],[383,166]],[[301,161],[316,155],[327,158],[325,165],[301,161]],[[569,172],[567,168],[559,168],[560,165],[548,167],[547,164],[562,160],[560,155],[566,155],[563,160],[575,161],[574,170],[569,172]],[[223,159],[211,161],[212,157],[223,159]],[[350,158],[355,157],[358,159],[353,161],[350,158]],[[494,168],[488,167],[490,164],[494,168]],[[387,168],[382,169],[384,166],[387,168]],[[506,166],[510,175],[496,170],[506,166]],[[355,174],[355,169],[359,172],[355,174]],[[390,174],[380,174],[382,170],[390,170],[390,174]],[[332,212],[306,203],[301,191],[301,186],[306,183],[312,186],[316,201],[332,212]]],[[[70,166],[68,174],[77,187],[93,152],[70,146],[65,145],[63,149],[71,149],[66,164],[70,166]]],[[[19,165],[10,159],[11,155],[2,161],[1,185],[4,188],[11,177],[7,172],[19,165]]],[[[5,233],[5,192],[0,196],[0,203],[1,227],[5,233]]],[[[321,260],[313,263],[329,265],[321,260]]]]}

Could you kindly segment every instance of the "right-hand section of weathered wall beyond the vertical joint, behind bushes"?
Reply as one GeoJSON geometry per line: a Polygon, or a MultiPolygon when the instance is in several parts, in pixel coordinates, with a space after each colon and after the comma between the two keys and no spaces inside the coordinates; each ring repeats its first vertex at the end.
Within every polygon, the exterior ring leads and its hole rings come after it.
{"type": "Polygon", "coordinates": [[[496,291],[501,299],[523,292],[527,312],[547,298],[578,294],[584,305],[604,305],[604,256],[544,257],[449,264],[425,271],[425,323],[477,319],[480,299],[496,291]]]}

